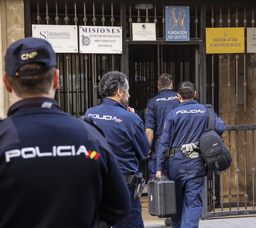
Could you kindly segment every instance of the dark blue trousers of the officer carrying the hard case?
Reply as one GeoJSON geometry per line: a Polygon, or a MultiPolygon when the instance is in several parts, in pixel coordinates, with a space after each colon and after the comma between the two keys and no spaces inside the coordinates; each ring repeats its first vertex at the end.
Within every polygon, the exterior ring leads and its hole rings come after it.
{"type": "Polygon", "coordinates": [[[198,228],[203,209],[204,164],[201,153],[195,159],[182,152],[169,159],[169,179],[175,182],[177,205],[172,228],[198,228]]]}

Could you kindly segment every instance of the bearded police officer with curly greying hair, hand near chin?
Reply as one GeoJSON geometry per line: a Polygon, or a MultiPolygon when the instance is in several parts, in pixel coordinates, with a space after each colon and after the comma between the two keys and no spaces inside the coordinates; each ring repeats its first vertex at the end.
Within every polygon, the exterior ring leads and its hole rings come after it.
{"type": "Polygon", "coordinates": [[[150,144],[143,121],[128,106],[129,83],[120,71],[109,71],[99,83],[101,105],[89,108],[85,116],[92,118],[103,130],[128,186],[131,198],[129,215],[113,228],[142,228],[141,201],[134,199],[139,161],[147,158],[150,144]]]}

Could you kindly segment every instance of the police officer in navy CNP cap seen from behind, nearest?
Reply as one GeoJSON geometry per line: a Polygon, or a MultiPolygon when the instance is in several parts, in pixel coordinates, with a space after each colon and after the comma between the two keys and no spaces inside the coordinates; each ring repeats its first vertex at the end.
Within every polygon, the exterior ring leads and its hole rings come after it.
{"type": "Polygon", "coordinates": [[[3,81],[14,104],[0,122],[1,228],[96,228],[129,213],[129,192],[103,133],[54,100],[56,65],[45,40],[21,39],[6,51],[3,81]]]}

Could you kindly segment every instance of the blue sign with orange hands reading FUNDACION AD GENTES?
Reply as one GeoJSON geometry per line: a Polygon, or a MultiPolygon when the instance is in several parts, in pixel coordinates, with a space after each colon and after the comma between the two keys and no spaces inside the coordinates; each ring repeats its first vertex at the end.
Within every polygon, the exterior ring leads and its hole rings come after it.
{"type": "Polygon", "coordinates": [[[165,7],[165,40],[189,41],[189,6],[165,7]]]}

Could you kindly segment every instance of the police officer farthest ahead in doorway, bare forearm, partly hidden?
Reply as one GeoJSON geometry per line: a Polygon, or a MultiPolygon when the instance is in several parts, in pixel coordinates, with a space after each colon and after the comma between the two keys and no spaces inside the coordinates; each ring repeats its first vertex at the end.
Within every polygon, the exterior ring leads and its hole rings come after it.
{"type": "MultiPolygon", "coordinates": [[[[157,79],[157,84],[159,91],[155,97],[148,101],[144,125],[151,145],[154,133],[156,135],[154,142],[155,148],[151,151],[148,161],[148,171],[151,178],[156,178],[157,150],[164,128],[164,120],[172,109],[179,106],[179,100],[176,95],[177,93],[172,89],[172,76],[167,73],[160,74],[157,79]]],[[[166,176],[168,176],[167,172],[168,169],[164,171],[166,176]]]]}

